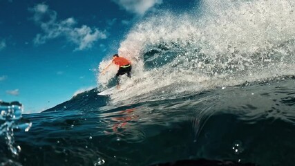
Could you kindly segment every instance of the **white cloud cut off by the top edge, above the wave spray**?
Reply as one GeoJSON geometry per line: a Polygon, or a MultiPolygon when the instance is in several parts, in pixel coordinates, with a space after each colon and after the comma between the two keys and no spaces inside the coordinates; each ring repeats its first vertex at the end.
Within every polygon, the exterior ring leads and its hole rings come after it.
{"type": "Polygon", "coordinates": [[[113,0],[126,11],[135,14],[144,15],[144,13],[153,8],[156,4],[161,4],[162,0],[113,0]]]}

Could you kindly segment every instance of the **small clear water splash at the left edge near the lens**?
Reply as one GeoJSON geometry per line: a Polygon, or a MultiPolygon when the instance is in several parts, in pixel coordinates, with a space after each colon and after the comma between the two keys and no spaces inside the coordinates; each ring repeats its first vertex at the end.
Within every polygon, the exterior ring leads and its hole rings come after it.
{"type": "Polygon", "coordinates": [[[31,122],[23,120],[22,111],[23,107],[19,102],[0,101],[0,136],[4,136],[6,145],[14,157],[17,157],[21,151],[21,147],[15,145],[14,129],[28,131],[32,126],[31,122]]]}

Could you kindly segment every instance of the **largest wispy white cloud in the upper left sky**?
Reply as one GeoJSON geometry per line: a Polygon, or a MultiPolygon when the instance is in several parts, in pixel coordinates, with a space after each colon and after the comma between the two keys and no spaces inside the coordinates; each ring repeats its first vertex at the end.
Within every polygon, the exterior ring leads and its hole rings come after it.
{"type": "Polygon", "coordinates": [[[45,44],[48,39],[65,37],[68,42],[77,45],[75,50],[91,48],[98,39],[106,39],[106,32],[86,25],[75,27],[77,21],[70,17],[65,20],[57,20],[57,12],[50,10],[45,4],[38,4],[29,9],[34,13],[32,19],[43,30],[43,34],[37,34],[34,43],[45,44]]]}

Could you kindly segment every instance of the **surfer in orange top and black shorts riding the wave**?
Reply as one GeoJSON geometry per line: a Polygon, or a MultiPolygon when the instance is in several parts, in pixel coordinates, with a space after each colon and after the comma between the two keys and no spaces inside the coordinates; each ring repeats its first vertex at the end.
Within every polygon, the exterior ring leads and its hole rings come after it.
{"type": "MultiPolygon", "coordinates": [[[[118,77],[120,75],[124,75],[127,73],[127,77],[130,77],[131,78],[131,62],[124,58],[124,57],[119,57],[119,55],[115,54],[113,55],[113,60],[111,62],[111,64],[116,64],[119,66],[119,70],[117,71],[117,74],[116,74],[116,79],[117,79],[117,86],[119,85],[119,79],[118,77]]],[[[102,71],[102,75],[104,75],[104,73],[106,72],[106,69],[111,66],[111,64],[108,64],[108,66],[106,66],[106,68],[104,68],[104,70],[102,71]]]]}

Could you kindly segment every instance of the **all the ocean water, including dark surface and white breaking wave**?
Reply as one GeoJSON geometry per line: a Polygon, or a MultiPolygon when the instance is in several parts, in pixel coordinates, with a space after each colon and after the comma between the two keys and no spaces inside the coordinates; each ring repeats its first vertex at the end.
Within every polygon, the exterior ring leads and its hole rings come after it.
{"type": "Polygon", "coordinates": [[[42,113],[1,103],[1,165],[294,165],[294,9],[206,0],[146,17],[120,45],[120,93],[97,95],[114,67],[42,113]]]}

